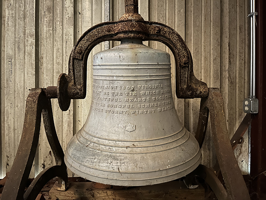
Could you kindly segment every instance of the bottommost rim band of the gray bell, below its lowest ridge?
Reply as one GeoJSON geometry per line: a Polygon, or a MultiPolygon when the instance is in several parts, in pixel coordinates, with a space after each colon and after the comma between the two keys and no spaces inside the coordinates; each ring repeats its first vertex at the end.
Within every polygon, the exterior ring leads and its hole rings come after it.
{"type": "MultiPolygon", "coordinates": [[[[130,186],[155,185],[155,184],[173,181],[173,180],[176,180],[178,178],[182,178],[183,176],[186,176],[187,174],[194,171],[199,166],[199,164],[201,163],[201,160],[202,160],[202,155],[201,155],[200,150],[199,150],[199,153],[200,153],[199,159],[192,166],[188,167],[187,169],[184,169],[183,171],[179,171],[177,173],[169,174],[166,176],[158,176],[158,177],[151,177],[148,179],[136,179],[136,180],[110,179],[110,178],[106,178],[106,177],[104,178],[104,177],[100,177],[100,176],[87,174],[87,173],[84,173],[83,171],[78,170],[77,168],[74,168],[67,161],[66,157],[64,158],[64,161],[65,161],[65,164],[69,168],[70,171],[72,171],[74,174],[76,174],[78,176],[85,178],[86,180],[90,180],[93,182],[98,182],[98,183],[102,183],[102,184],[106,184],[106,185],[130,187],[130,186]]],[[[173,168],[177,168],[177,167],[178,166],[173,167],[173,168]]],[[[164,171],[164,170],[167,170],[167,169],[163,169],[161,171],[164,171]]],[[[142,174],[146,176],[148,173],[149,172],[143,172],[142,174]]],[[[138,175],[141,175],[141,173],[139,173],[138,175]]],[[[121,173],[121,176],[122,176],[122,173],[121,173]]]]}

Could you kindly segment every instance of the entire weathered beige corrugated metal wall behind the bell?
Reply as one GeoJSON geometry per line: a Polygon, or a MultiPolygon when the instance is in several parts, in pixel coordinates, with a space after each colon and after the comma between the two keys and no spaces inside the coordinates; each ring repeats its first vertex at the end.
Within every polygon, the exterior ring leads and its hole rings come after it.
{"type": "MultiPolygon", "coordinates": [[[[56,85],[59,74],[67,72],[69,54],[81,34],[109,17],[118,20],[124,13],[124,0],[2,0],[0,10],[2,178],[10,171],[16,155],[29,89],[56,85]]],[[[221,89],[232,136],[244,116],[242,100],[248,96],[249,90],[250,19],[246,17],[250,10],[249,1],[141,0],[139,10],[145,20],[167,24],[185,40],[192,53],[196,77],[208,87],[221,89]]],[[[169,52],[161,43],[145,44],[169,52]]],[[[118,42],[110,42],[111,47],[114,45],[118,42]]],[[[88,91],[84,100],[72,101],[66,112],[62,112],[57,100],[53,100],[55,126],[63,149],[87,118],[92,92],[92,55],[108,46],[109,42],[97,45],[89,56],[88,91]]],[[[173,57],[171,61],[174,63],[173,57]]],[[[174,71],[172,74],[174,77],[174,71]]],[[[174,100],[181,122],[195,133],[200,100],[174,100]]],[[[247,134],[244,139],[235,154],[243,173],[247,173],[247,134]]],[[[202,163],[207,166],[216,161],[210,128],[202,157],[202,163]]],[[[41,128],[31,177],[54,163],[41,128]]],[[[71,172],[69,176],[72,176],[71,172]]]]}

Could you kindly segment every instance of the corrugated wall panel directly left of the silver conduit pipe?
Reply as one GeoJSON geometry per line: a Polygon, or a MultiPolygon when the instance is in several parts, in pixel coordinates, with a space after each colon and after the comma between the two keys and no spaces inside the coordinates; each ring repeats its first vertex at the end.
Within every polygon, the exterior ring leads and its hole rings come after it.
{"type": "MultiPolygon", "coordinates": [[[[222,1],[221,6],[224,10],[221,88],[227,106],[228,132],[232,136],[244,117],[240,109],[242,100],[249,95],[250,18],[247,18],[247,13],[250,12],[250,1],[222,1]]],[[[247,133],[244,134],[244,143],[235,150],[235,155],[242,172],[248,173],[247,133]]]]}

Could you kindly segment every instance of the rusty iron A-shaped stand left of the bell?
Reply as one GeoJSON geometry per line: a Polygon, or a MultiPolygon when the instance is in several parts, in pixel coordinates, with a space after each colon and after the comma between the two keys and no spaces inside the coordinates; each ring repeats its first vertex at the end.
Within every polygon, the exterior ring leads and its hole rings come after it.
{"type": "Polygon", "coordinates": [[[35,199],[43,186],[56,176],[60,177],[60,189],[65,190],[68,181],[67,167],[64,163],[64,152],[54,127],[51,100],[46,97],[42,88],[34,88],[30,90],[27,98],[21,140],[10,174],[4,186],[1,200],[35,199]],[[25,192],[28,176],[38,146],[42,115],[45,132],[53,151],[56,165],[43,170],[25,192]]]}

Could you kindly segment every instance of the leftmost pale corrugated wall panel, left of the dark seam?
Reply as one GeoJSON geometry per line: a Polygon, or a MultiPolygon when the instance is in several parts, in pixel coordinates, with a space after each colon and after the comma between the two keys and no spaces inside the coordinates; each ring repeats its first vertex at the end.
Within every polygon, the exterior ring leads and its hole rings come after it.
{"type": "Polygon", "coordinates": [[[4,48],[1,55],[1,143],[4,144],[1,174],[5,176],[11,169],[20,141],[28,89],[35,87],[35,79],[28,80],[35,76],[35,5],[30,0],[2,3],[1,24],[5,27],[1,28],[1,48],[4,48]]]}

